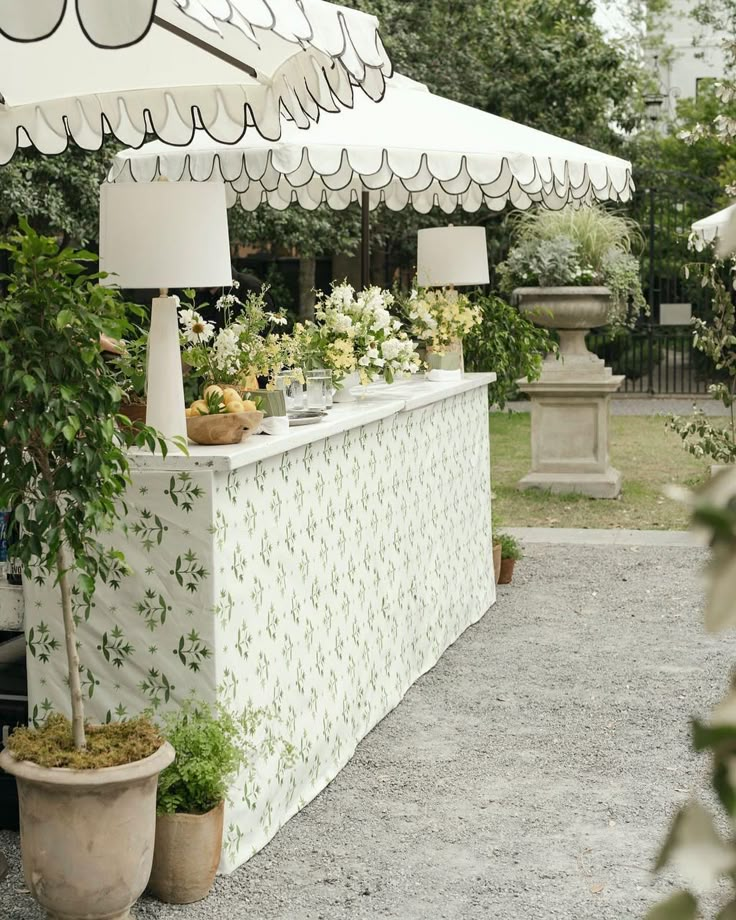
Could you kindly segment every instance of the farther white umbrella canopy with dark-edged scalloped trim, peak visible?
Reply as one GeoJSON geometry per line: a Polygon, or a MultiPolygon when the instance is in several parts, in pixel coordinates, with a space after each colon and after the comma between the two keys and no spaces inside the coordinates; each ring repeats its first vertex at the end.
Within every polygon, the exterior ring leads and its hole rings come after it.
{"type": "Polygon", "coordinates": [[[383,102],[323,119],[308,134],[284,126],[270,143],[247,135],[225,147],[199,132],[186,149],[158,142],[115,157],[109,179],[222,181],[229,204],[286,208],[326,203],[342,209],[368,193],[375,208],[439,205],[501,210],[507,203],[561,208],[574,202],[626,201],[631,164],[430,93],[396,76],[383,102]]]}

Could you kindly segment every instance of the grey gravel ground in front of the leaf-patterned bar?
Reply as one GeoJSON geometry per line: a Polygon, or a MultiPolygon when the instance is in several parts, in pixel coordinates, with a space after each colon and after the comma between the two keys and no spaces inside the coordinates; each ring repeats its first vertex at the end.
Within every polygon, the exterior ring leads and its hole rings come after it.
{"type": "MultiPolygon", "coordinates": [[[[530,545],[497,606],[412,688],[332,785],[199,905],[138,920],[621,920],[704,783],[688,719],[736,640],[706,637],[688,547],[530,545]]],[[[17,837],[3,920],[40,920],[17,837]]]]}

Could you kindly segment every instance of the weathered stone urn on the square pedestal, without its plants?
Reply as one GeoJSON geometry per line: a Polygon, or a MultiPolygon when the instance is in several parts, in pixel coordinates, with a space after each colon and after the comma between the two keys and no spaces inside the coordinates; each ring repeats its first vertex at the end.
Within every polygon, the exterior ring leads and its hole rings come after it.
{"type": "MultiPolygon", "coordinates": [[[[579,371],[605,373],[604,362],[588,350],[585,337],[591,329],[607,324],[611,305],[608,288],[517,288],[514,298],[519,310],[536,326],[557,330],[562,366],[572,364],[579,371]]],[[[551,357],[546,364],[555,366],[558,362],[551,357]]],[[[545,370],[548,369],[545,367],[545,370]]]]}

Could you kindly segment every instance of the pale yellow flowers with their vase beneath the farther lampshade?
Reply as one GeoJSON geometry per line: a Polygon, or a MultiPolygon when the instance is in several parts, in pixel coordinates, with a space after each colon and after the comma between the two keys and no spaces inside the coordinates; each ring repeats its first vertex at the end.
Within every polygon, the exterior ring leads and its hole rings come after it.
{"type": "Polygon", "coordinates": [[[419,289],[404,305],[410,332],[426,348],[430,370],[461,371],[463,339],[481,321],[481,311],[457,291],[419,289]]]}

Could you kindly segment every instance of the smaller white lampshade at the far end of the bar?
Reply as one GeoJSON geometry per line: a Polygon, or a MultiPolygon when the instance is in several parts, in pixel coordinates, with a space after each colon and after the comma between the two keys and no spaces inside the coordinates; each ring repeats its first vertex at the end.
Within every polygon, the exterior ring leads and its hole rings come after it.
{"type": "Polygon", "coordinates": [[[420,230],[417,281],[421,287],[488,284],[485,227],[436,227],[420,230]]]}

